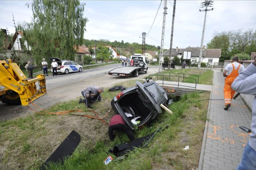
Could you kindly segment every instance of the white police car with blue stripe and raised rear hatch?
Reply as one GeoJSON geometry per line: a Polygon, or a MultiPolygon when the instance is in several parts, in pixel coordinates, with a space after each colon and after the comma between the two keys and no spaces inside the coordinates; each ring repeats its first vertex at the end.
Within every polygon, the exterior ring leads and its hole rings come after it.
{"type": "MultiPolygon", "coordinates": [[[[51,60],[51,62],[53,62],[53,59],[55,59],[55,62],[58,63],[57,73],[68,74],[70,72],[82,72],[83,71],[83,67],[73,61],[60,60],[59,58],[49,58],[49,59],[51,60]]],[[[51,67],[51,64],[49,66],[51,67]]],[[[53,70],[52,70],[52,72],[53,72],[53,70]]]]}

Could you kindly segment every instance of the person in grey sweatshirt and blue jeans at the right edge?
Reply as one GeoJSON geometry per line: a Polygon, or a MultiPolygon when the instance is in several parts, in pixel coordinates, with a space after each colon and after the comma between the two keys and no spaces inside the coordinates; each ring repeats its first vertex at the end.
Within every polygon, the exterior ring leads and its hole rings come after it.
{"type": "Polygon", "coordinates": [[[254,95],[252,108],[252,123],[249,142],[246,144],[242,160],[237,170],[255,170],[256,169],[256,57],[231,85],[233,90],[241,94],[254,95]]]}

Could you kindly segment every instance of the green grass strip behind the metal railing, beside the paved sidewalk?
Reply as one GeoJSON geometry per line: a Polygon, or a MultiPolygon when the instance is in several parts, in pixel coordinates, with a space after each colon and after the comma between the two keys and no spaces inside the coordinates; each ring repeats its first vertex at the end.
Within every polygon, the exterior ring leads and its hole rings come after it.
{"type": "MultiPolygon", "coordinates": [[[[155,75],[154,80],[157,79],[155,75]]],[[[197,69],[177,69],[177,70],[164,70],[159,73],[158,80],[164,79],[165,81],[178,81],[184,83],[195,83],[212,85],[213,71],[211,70],[197,70],[197,69]],[[171,74],[170,74],[171,73],[171,74]],[[190,75],[194,74],[194,75],[190,75]],[[161,76],[164,75],[164,76],[161,76]],[[169,77],[171,75],[171,77],[169,77]],[[179,78],[178,78],[179,77],[179,78]]]]}

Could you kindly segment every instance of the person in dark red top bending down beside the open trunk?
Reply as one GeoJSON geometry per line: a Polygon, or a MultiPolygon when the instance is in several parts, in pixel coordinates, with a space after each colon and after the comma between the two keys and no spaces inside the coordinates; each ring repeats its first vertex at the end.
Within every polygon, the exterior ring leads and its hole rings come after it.
{"type": "Polygon", "coordinates": [[[115,115],[111,118],[109,123],[109,138],[111,141],[114,140],[113,131],[122,131],[124,132],[130,141],[134,140],[134,135],[132,130],[125,124],[124,119],[121,115],[115,115]]]}

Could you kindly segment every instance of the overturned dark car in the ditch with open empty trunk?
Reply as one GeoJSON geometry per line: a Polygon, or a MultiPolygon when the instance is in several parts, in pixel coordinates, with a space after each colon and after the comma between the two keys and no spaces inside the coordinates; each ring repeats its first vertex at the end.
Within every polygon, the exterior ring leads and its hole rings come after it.
{"type": "Polygon", "coordinates": [[[141,83],[136,81],[137,86],[128,88],[120,92],[111,101],[111,106],[116,114],[120,114],[126,124],[135,129],[134,118],[137,118],[137,126],[142,126],[151,122],[162,113],[160,104],[165,104],[168,100],[165,90],[156,82],[147,81],[141,83]]]}

